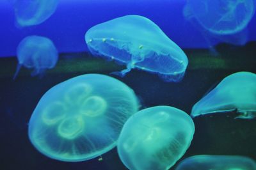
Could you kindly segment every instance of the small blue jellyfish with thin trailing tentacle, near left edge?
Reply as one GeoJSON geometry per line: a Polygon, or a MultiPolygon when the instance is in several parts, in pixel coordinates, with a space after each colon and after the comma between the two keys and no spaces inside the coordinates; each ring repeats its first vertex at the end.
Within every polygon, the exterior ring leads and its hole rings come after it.
{"type": "Polygon", "coordinates": [[[18,65],[13,79],[19,73],[21,66],[34,68],[32,76],[44,73],[53,68],[58,61],[58,51],[52,41],[44,36],[26,36],[17,47],[18,65]]]}

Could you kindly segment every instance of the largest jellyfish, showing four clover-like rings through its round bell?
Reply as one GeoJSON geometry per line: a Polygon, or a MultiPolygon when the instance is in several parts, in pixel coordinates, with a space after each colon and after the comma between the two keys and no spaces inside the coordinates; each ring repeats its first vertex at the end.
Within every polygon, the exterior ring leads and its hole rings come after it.
{"type": "Polygon", "coordinates": [[[29,139],[47,157],[88,160],[114,148],[125,121],[137,111],[136,95],[123,82],[80,75],[40,99],[29,120],[29,139]]]}

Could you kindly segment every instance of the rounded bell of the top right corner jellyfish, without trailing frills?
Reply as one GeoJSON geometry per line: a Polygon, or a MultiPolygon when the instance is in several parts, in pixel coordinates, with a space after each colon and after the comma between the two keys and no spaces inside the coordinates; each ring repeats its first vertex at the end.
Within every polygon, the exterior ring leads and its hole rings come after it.
{"type": "Polygon", "coordinates": [[[255,12],[253,0],[188,0],[186,19],[196,19],[200,26],[215,35],[242,31],[255,12]]]}

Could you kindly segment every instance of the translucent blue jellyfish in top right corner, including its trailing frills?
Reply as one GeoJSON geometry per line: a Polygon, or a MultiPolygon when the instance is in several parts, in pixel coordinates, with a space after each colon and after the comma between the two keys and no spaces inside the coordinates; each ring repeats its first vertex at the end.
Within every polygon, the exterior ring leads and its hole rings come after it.
{"type": "Polygon", "coordinates": [[[253,0],[188,0],[184,7],[184,17],[201,31],[213,51],[218,42],[244,45],[254,12],[253,0]]]}

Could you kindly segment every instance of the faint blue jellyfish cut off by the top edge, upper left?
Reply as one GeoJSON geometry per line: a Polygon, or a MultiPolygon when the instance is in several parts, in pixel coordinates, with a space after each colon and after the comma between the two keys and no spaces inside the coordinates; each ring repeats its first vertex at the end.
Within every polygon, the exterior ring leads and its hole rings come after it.
{"type": "Polygon", "coordinates": [[[18,26],[41,24],[55,12],[58,2],[58,0],[15,0],[14,11],[18,26]]]}

